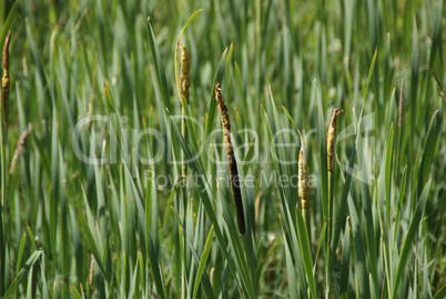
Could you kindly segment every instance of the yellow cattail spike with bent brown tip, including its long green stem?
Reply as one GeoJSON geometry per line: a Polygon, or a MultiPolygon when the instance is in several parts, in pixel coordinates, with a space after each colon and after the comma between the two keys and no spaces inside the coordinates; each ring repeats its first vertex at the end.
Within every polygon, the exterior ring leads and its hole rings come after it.
{"type": "MultiPolygon", "coordinates": [[[[332,213],[333,213],[333,183],[334,183],[334,165],[336,159],[336,119],[339,114],[344,113],[344,110],[339,108],[333,109],[332,120],[330,121],[328,131],[326,133],[327,139],[327,170],[328,170],[328,223],[327,223],[327,261],[330,261],[330,246],[332,242],[332,213]]],[[[327,262],[328,269],[330,262],[327,262]]],[[[327,295],[330,295],[331,288],[331,269],[327,271],[327,295]]]]}

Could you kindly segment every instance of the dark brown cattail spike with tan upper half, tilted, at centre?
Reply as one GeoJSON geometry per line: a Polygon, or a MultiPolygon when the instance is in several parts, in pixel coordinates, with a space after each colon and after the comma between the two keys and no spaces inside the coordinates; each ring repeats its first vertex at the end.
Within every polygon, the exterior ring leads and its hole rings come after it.
{"type": "Polygon", "coordinates": [[[223,133],[224,133],[224,146],[227,155],[227,165],[230,168],[231,187],[234,195],[235,210],[237,213],[237,225],[240,233],[245,233],[245,218],[243,213],[243,202],[242,193],[240,191],[239,171],[237,163],[234,157],[234,150],[232,149],[231,142],[231,122],[230,116],[227,114],[227,107],[222,99],[222,93],[220,93],[220,83],[215,82],[215,100],[219,103],[220,114],[222,118],[223,133]]]}

